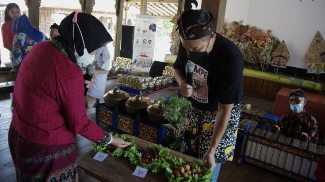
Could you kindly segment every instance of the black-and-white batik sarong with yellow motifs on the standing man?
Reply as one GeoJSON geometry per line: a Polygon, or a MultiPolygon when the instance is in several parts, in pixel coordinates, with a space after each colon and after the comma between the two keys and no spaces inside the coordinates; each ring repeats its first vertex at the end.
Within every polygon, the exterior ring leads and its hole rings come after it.
{"type": "MultiPolygon", "coordinates": [[[[235,150],[241,103],[232,107],[227,128],[215,152],[216,163],[232,161],[235,150]]],[[[203,111],[190,106],[184,132],[184,153],[203,159],[212,141],[217,111],[203,111]]]]}

